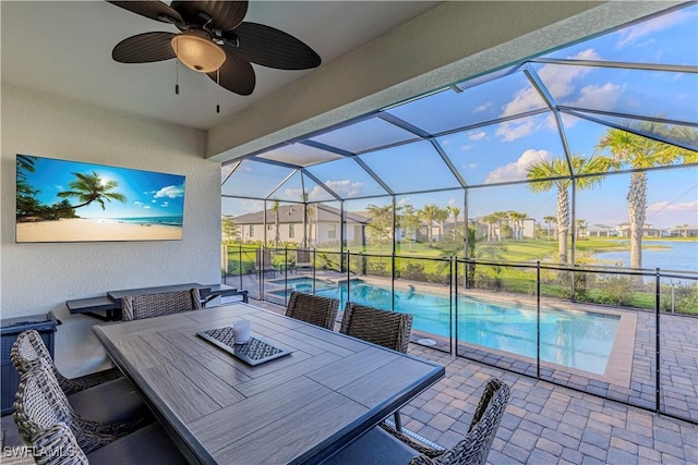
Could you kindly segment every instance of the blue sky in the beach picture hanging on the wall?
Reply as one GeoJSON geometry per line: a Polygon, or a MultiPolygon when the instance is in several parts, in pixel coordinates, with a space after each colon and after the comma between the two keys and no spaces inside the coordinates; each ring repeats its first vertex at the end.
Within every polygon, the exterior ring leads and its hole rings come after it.
{"type": "MultiPolygon", "coordinates": [[[[26,182],[39,193],[36,198],[43,205],[53,205],[63,198],[59,192],[72,191],[69,183],[75,180],[73,173],[97,173],[104,181],[116,181],[110,192],[127,197],[125,203],[105,201],[105,210],[97,203],[75,210],[81,218],[145,218],[182,216],[184,211],[184,176],[156,173],[152,171],[81,163],[70,160],[36,157],[35,172],[26,172],[26,182]]],[[[70,197],[71,205],[77,205],[76,197],[70,197]]]]}

